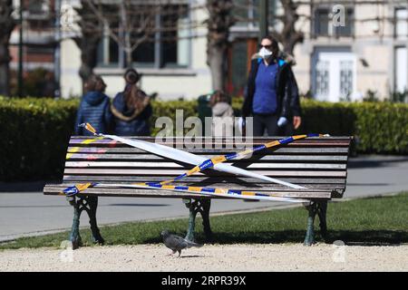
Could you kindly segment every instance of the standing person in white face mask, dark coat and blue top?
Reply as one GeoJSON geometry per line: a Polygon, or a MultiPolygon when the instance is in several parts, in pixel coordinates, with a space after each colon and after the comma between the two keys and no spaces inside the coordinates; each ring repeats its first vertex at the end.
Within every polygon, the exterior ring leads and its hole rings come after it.
{"type": "Polygon", "coordinates": [[[242,116],[254,117],[254,136],[265,130],[276,136],[300,115],[297,85],[290,64],[278,57],[277,41],[267,36],[260,46],[259,57],[251,61],[242,116]]]}

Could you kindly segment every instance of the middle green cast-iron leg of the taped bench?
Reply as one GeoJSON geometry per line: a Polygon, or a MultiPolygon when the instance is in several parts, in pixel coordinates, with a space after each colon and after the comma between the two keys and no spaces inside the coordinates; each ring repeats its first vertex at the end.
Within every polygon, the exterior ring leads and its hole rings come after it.
{"type": "Polygon", "coordinates": [[[186,239],[194,242],[194,229],[196,227],[196,217],[199,212],[202,217],[202,225],[204,227],[204,233],[206,239],[210,241],[212,239],[211,227],[209,226],[209,208],[211,205],[211,199],[183,199],[186,208],[189,208],[189,228],[187,230],[186,239]]]}

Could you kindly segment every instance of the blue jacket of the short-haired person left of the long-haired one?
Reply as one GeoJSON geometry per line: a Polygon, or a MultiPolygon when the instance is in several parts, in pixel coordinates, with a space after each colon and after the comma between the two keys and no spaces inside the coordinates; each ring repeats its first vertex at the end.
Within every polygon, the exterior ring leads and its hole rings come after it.
{"type": "Polygon", "coordinates": [[[78,124],[84,122],[89,122],[97,132],[107,133],[112,122],[109,104],[109,97],[102,92],[85,93],[76,115],[75,135],[92,135],[89,131],[78,127],[78,124]]]}

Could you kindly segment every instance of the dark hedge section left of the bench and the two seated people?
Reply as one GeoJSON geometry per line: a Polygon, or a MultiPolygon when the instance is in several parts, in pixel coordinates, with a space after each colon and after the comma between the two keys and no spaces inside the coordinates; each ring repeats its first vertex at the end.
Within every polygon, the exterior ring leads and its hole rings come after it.
{"type": "Polygon", "coordinates": [[[0,179],[60,178],[78,104],[0,97],[0,179]]]}

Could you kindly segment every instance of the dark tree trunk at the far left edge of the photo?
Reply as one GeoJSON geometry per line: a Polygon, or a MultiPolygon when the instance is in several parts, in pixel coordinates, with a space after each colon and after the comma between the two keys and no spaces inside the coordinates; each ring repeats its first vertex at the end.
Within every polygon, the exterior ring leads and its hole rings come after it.
{"type": "Polygon", "coordinates": [[[8,45],[10,35],[15,28],[13,0],[0,0],[0,95],[10,94],[11,60],[8,45]]]}

